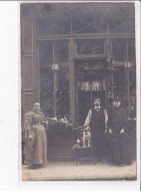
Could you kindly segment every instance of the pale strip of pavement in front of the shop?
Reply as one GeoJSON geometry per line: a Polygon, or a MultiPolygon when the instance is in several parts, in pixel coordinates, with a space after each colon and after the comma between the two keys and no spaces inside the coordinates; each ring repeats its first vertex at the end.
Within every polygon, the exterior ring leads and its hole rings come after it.
{"type": "Polygon", "coordinates": [[[77,166],[74,161],[48,162],[39,169],[31,169],[29,165],[22,166],[23,181],[51,180],[136,180],[136,162],[129,166],[115,166],[106,162],[81,161],[77,166]]]}

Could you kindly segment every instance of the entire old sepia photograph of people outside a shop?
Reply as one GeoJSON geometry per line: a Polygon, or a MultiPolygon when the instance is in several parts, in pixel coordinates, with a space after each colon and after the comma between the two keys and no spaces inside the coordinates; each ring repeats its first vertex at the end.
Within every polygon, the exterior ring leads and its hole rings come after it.
{"type": "Polygon", "coordinates": [[[20,3],[22,181],[136,180],[135,2],[20,3]]]}

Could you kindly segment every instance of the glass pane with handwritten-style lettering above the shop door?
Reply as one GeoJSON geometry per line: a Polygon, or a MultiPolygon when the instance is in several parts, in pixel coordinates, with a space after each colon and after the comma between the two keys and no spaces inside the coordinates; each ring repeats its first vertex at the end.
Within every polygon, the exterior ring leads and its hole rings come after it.
{"type": "Polygon", "coordinates": [[[78,55],[104,54],[104,39],[83,39],[76,41],[78,55]]]}

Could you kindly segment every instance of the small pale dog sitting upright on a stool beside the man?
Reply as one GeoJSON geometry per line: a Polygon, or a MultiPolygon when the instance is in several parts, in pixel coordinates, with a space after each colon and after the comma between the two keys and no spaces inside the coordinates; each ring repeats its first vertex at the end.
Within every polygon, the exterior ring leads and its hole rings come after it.
{"type": "Polygon", "coordinates": [[[77,144],[78,145],[82,144],[83,147],[90,147],[91,140],[90,127],[84,125],[78,127],[77,130],[79,130],[79,138],[77,139],[77,144]]]}

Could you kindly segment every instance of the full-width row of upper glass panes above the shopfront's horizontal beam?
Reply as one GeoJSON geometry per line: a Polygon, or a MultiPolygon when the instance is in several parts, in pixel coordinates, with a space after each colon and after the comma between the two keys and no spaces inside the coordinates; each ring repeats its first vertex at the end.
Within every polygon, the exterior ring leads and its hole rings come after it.
{"type": "Polygon", "coordinates": [[[108,23],[110,32],[134,32],[134,4],[119,5],[115,3],[42,4],[38,11],[39,34],[105,33],[108,23]]]}

